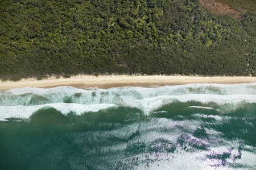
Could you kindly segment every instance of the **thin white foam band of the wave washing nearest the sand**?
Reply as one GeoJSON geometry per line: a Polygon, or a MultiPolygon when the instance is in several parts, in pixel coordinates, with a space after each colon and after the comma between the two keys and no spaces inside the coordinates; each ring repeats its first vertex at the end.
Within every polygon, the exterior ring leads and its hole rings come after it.
{"type": "Polygon", "coordinates": [[[56,88],[21,88],[21,89],[10,89],[7,92],[13,94],[49,94],[49,93],[86,93],[90,91],[100,92],[117,92],[118,94],[137,92],[143,97],[178,95],[188,93],[206,93],[206,94],[256,94],[256,82],[249,84],[185,84],[185,85],[174,85],[174,86],[161,86],[159,88],[141,88],[141,87],[118,87],[110,89],[78,89],[72,86],[59,86],[56,88]]]}

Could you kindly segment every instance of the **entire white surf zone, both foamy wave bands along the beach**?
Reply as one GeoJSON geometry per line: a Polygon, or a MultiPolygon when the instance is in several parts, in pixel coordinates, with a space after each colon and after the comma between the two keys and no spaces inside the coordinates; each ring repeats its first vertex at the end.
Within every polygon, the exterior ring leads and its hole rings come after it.
{"type": "MultiPolygon", "coordinates": [[[[53,107],[63,114],[73,111],[82,114],[112,106],[128,106],[141,109],[145,114],[173,102],[200,102],[207,105],[229,104],[234,110],[240,103],[256,103],[256,83],[252,84],[187,84],[163,86],[159,88],[119,87],[110,89],[77,89],[60,86],[50,89],[22,88],[0,92],[0,118],[28,118],[43,107],[53,107]],[[79,93],[78,96],[75,94],[79,93]],[[20,96],[21,94],[28,94],[20,96]],[[31,96],[38,94],[45,100],[36,103],[31,96]],[[64,103],[65,99],[72,103],[64,103]],[[33,100],[31,102],[31,100],[33,100]],[[46,103],[46,104],[44,104],[46,103]],[[42,105],[43,104],[43,105],[42,105]],[[28,106],[32,105],[32,106],[28,106]]],[[[214,109],[210,106],[190,106],[191,108],[214,109]]],[[[218,109],[216,109],[218,110],[218,109]]]]}

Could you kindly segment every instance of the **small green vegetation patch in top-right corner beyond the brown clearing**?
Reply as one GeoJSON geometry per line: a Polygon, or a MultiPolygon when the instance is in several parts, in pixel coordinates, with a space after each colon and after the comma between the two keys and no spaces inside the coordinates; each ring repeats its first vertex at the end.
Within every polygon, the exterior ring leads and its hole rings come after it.
{"type": "Polygon", "coordinates": [[[240,11],[241,9],[246,9],[256,13],[255,0],[217,0],[217,1],[227,4],[237,11],[240,11]]]}

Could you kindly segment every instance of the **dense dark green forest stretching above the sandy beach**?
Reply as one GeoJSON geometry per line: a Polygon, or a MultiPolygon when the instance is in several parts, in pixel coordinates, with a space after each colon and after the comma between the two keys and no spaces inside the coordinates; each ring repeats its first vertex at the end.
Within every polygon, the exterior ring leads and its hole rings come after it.
{"type": "Polygon", "coordinates": [[[2,79],[256,76],[256,15],[250,9],[241,20],[214,16],[197,0],[10,0],[0,2],[0,11],[2,79]]]}

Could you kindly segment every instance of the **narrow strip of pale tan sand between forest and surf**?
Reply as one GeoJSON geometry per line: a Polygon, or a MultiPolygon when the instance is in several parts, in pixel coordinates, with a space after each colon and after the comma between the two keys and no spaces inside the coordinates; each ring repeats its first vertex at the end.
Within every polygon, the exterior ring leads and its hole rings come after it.
{"type": "Polygon", "coordinates": [[[9,90],[16,88],[53,88],[56,86],[73,86],[75,88],[102,89],[119,86],[141,86],[157,87],[164,85],[182,85],[198,83],[217,83],[217,84],[242,84],[256,82],[256,77],[226,77],[226,76],[130,76],[130,75],[103,75],[91,76],[80,75],[70,78],[48,77],[43,80],[36,78],[26,78],[19,81],[0,81],[0,90],[9,90]]]}

